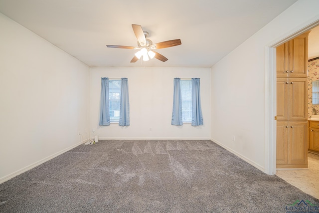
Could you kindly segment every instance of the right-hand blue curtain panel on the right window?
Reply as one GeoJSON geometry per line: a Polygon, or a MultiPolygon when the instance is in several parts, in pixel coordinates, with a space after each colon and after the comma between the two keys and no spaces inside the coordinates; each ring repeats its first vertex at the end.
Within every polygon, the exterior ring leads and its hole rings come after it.
{"type": "Polygon", "coordinates": [[[191,79],[191,125],[203,125],[203,116],[200,105],[200,83],[199,78],[191,79]]]}

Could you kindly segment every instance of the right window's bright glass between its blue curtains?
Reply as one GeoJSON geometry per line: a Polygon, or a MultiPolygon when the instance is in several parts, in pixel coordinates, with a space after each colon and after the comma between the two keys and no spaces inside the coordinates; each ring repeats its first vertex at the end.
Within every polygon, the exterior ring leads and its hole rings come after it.
{"type": "Polygon", "coordinates": [[[180,80],[182,121],[191,123],[191,80],[180,80]]]}

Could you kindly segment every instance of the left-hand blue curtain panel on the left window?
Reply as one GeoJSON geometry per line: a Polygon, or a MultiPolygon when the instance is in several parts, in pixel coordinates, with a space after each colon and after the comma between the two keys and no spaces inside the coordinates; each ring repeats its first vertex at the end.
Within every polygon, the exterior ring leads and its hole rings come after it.
{"type": "Polygon", "coordinates": [[[109,78],[102,78],[101,83],[101,106],[100,106],[100,126],[110,125],[109,112],[109,78]]]}

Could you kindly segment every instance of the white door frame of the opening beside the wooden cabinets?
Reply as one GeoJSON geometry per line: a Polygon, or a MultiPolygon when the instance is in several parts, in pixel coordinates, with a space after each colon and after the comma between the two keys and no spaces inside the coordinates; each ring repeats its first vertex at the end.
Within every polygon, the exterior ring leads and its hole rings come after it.
{"type": "Polygon", "coordinates": [[[276,174],[277,76],[276,47],[319,25],[319,16],[287,32],[265,46],[265,173],[276,174]]]}

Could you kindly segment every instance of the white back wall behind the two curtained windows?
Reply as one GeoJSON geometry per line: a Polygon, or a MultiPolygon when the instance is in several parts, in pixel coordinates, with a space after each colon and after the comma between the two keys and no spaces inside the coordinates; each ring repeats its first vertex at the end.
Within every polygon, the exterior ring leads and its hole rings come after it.
{"type": "Polygon", "coordinates": [[[210,68],[91,68],[91,128],[100,139],[210,139],[210,68]],[[101,77],[128,78],[129,127],[99,126],[101,77]],[[200,78],[203,126],[171,125],[174,77],[200,78]]]}

